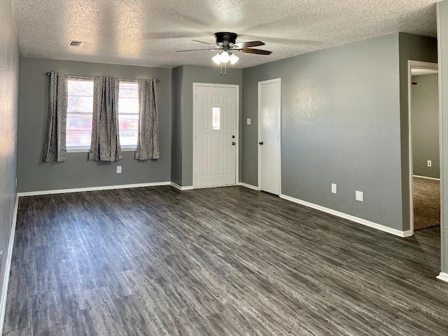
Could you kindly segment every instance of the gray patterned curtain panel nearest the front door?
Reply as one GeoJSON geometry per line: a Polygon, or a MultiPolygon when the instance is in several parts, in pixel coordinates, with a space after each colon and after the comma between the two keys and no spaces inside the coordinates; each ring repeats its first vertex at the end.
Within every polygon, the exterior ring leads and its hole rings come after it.
{"type": "Polygon", "coordinates": [[[160,158],[159,118],[155,83],[155,79],[139,80],[139,139],[135,152],[137,160],[160,158]]]}

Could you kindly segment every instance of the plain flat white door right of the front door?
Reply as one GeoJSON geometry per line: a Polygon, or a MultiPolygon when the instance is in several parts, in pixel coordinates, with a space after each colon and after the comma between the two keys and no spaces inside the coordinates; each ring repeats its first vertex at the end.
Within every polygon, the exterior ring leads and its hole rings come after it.
{"type": "Polygon", "coordinates": [[[280,194],[280,78],[258,82],[258,188],[280,194]]]}

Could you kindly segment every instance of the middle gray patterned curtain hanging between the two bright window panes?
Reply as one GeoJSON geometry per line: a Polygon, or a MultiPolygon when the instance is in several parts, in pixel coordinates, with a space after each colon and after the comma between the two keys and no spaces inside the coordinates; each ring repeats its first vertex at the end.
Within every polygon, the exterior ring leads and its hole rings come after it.
{"type": "Polygon", "coordinates": [[[89,160],[121,160],[120,135],[118,134],[118,80],[99,76],[93,87],[92,143],[89,160]]]}

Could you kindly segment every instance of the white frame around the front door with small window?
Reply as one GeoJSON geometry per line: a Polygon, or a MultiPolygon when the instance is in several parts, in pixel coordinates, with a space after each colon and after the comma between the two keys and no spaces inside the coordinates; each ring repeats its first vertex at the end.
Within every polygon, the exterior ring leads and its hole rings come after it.
{"type": "MultiPolygon", "coordinates": [[[[236,134],[235,134],[235,142],[237,145],[235,146],[235,185],[237,186],[239,183],[239,85],[237,84],[218,84],[218,83],[193,83],[193,189],[197,189],[196,187],[196,94],[197,87],[230,87],[235,89],[235,97],[236,97],[236,106],[235,106],[235,118],[236,120],[236,134]]],[[[200,187],[200,188],[217,188],[213,187],[200,187]]]]}

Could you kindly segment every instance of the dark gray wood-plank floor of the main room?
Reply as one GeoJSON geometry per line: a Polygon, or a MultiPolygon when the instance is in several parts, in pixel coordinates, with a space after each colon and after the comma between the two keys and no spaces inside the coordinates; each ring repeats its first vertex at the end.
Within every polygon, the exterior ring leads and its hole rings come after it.
{"type": "Polygon", "coordinates": [[[22,197],[3,333],[448,335],[439,236],[242,187],[22,197]]]}

